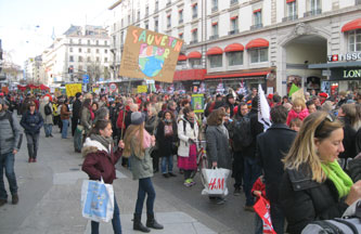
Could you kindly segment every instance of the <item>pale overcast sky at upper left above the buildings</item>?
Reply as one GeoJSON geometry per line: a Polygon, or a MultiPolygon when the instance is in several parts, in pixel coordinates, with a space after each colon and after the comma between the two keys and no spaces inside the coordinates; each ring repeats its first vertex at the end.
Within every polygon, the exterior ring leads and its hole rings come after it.
{"type": "Polygon", "coordinates": [[[24,66],[72,24],[104,26],[116,0],[0,0],[0,39],[12,61],[24,66]]]}

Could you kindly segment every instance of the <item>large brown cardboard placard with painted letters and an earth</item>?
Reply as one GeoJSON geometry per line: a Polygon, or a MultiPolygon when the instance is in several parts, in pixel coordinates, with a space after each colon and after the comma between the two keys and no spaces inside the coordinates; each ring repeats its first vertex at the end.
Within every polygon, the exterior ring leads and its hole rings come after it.
{"type": "Polygon", "coordinates": [[[119,75],[172,82],[183,40],[129,26],[119,75]]]}

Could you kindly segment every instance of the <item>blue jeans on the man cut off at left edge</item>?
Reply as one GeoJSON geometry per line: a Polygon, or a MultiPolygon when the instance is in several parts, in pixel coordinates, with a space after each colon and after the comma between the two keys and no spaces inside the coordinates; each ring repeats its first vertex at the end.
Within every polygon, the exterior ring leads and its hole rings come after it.
{"type": "Polygon", "coordinates": [[[0,155],[0,199],[8,199],[5,184],[3,182],[3,169],[5,168],[5,176],[8,178],[10,192],[12,195],[17,194],[17,183],[14,171],[15,156],[13,153],[0,155]]]}

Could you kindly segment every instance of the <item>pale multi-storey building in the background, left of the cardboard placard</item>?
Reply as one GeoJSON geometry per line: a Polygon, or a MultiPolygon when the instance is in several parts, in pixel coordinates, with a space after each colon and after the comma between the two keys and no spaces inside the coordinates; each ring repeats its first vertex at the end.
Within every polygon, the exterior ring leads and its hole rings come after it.
{"type": "Polygon", "coordinates": [[[111,40],[107,30],[99,26],[70,26],[42,53],[44,79],[48,84],[90,82],[111,79],[111,40]]]}

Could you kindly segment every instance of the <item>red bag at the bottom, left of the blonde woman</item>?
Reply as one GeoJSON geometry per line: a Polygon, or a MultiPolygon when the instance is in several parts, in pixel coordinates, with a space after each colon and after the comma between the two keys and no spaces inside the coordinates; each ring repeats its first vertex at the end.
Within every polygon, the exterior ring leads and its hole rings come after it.
{"type": "Polygon", "coordinates": [[[254,205],[254,209],[263,222],[263,234],[276,234],[272,226],[270,203],[265,197],[260,196],[254,205]]]}

